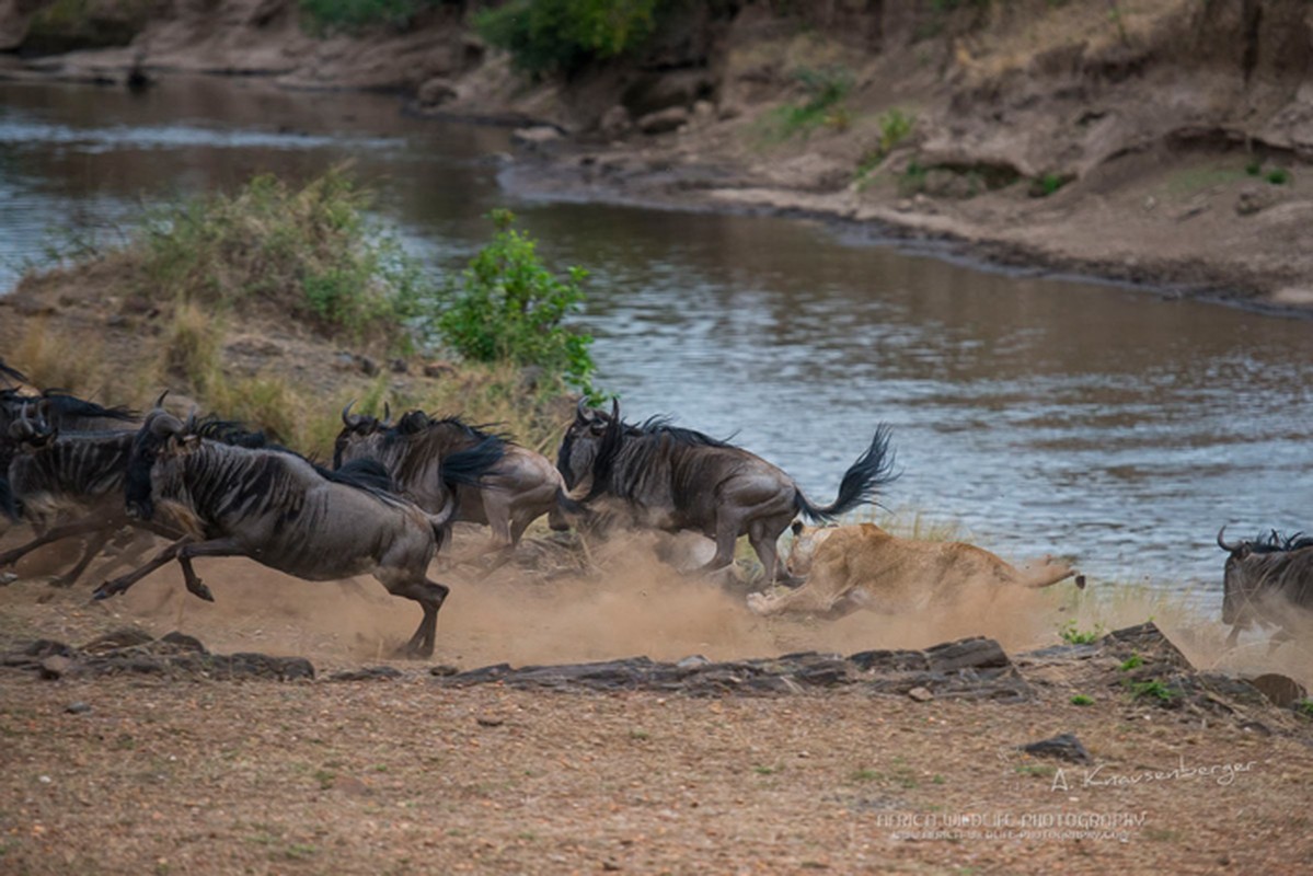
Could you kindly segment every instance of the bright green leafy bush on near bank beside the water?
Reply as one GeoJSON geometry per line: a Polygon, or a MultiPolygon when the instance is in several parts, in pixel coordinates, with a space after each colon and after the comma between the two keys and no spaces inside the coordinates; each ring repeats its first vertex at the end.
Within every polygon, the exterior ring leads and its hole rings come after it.
{"type": "Polygon", "coordinates": [[[583,268],[554,276],[537,243],[516,231],[515,214],[494,210],[492,243],[446,284],[437,331],[456,352],[479,362],[536,365],[592,395],[592,336],[562,323],[583,309],[583,268]]]}

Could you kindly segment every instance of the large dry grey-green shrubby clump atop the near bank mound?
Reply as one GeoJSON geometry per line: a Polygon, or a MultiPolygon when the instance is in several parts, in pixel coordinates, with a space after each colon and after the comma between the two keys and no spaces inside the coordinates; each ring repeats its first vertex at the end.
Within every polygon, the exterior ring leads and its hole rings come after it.
{"type": "Polygon", "coordinates": [[[150,297],[268,307],[352,340],[410,345],[428,293],[400,244],[365,217],[368,193],[340,171],[295,188],[256,176],[154,213],[137,247],[150,297]]]}

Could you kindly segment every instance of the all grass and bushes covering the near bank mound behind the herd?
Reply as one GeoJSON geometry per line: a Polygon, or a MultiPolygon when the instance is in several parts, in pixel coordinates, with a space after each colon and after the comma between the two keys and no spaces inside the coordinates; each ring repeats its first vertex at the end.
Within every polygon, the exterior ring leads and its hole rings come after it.
{"type": "MultiPolygon", "coordinates": [[[[348,401],[362,412],[387,402],[499,423],[553,450],[571,389],[592,393],[591,338],[566,324],[583,307],[586,272],[554,276],[498,211],[490,244],[437,282],[369,219],[368,205],[368,193],[331,171],[302,186],[259,176],[232,194],[161,208],[123,247],[80,251],[71,268],[85,281],[79,271],[98,265],[112,285],[97,294],[122,302],[112,319],[142,320],[130,368],[106,368],[116,351],[51,326],[26,332],[8,357],[37,385],[105,402],[140,406],[172,389],[320,456],[348,401]],[[236,361],[251,343],[238,334],[309,336],[316,361],[256,356],[252,370],[251,357],[236,361]],[[419,370],[416,353],[457,361],[429,368],[436,380],[398,380],[377,364],[362,372],[360,356],[335,352],[344,348],[407,372],[419,370]]],[[[59,294],[58,272],[41,280],[59,294]]]]}

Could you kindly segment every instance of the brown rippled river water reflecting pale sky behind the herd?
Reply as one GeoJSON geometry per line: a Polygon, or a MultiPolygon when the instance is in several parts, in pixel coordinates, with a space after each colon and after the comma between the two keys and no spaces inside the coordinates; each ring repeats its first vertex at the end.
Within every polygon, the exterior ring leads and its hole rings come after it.
{"type": "Polygon", "coordinates": [[[860,229],[525,198],[499,183],[507,142],[248,80],[0,83],[0,289],[47,244],[113,240],[161,198],[349,162],[435,271],[487,240],[490,209],[516,210],[554,267],[591,271],[582,322],[626,419],[733,435],[813,500],[886,422],[903,474],[884,504],[905,521],[1209,607],[1218,527],[1313,528],[1313,322],[985,271],[860,229]]]}

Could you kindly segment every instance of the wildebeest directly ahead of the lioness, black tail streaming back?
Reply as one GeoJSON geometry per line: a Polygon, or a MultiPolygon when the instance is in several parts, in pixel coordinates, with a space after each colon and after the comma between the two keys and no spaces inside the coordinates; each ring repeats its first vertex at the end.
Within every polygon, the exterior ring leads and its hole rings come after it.
{"type": "Polygon", "coordinates": [[[663,418],[641,424],[583,402],[561,441],[557,468],[572,495],[587,483],[584,506],[609,496],[637,527],[692,529],[716,541],[704,571],[734,561],[734,542],[747,535],[762,561],[765,583],[797,584],[779,562],[776,541],[798,514],[830,521],[865,502],[894,479],[889,428],[880,426],[871,445],[843,475],[834,503],[813,504],[793,478],[759,456],[663,418]]]}

